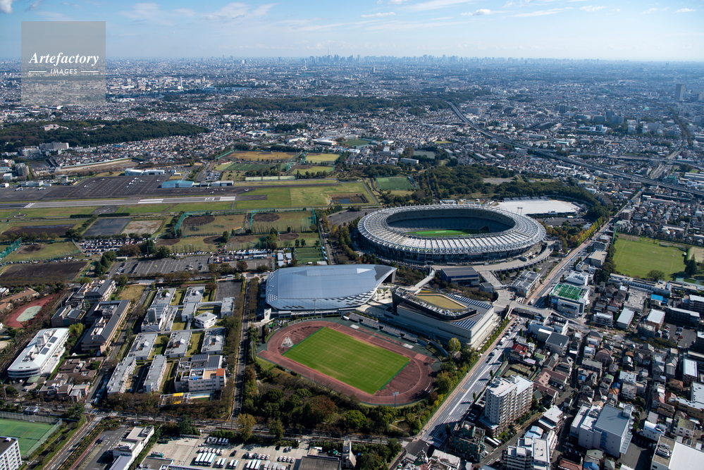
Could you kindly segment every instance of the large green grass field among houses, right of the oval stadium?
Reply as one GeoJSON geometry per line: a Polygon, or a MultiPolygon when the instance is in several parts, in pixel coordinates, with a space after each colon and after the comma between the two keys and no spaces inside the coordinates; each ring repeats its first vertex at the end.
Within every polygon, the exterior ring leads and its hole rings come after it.
{"type": "Polygon", "coordinates": [[[665,278],[684,271],[684,252],[677,247],[661,247],[667,242],[652,238],[639,238],[638,241],[616,240],[614,262],[619,273],[636,278],[645,278],[648,272],[657,269],[665,273],[665,278]]]}

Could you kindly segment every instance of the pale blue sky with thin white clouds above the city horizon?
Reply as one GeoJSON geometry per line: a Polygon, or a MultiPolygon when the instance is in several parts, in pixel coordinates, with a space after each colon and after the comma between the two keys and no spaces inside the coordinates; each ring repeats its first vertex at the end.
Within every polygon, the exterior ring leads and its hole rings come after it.
{"type": "Polygon", "coordinates": [[[106,21],[109,57],[704,60],[704,0],[0,0],[0,56],[37,20],[106,21]]]}

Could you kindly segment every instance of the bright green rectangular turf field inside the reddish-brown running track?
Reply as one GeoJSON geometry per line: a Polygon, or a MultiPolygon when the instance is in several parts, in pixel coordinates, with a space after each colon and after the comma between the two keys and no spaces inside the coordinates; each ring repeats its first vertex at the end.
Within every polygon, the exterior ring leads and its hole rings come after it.
{"type": "Polygon", "coordinates": [[[331,328],[321,328],[283,355],[371,395],[408,364],[407,357],[331,328]]]}

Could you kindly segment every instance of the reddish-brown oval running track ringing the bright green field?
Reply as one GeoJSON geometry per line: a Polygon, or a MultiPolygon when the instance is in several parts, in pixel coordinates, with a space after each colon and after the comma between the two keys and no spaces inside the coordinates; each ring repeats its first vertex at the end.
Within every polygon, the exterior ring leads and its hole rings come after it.
{"type": "Polygon", "coordinates": [[[348,326],[340,325],[339,323],[328,321],[303,321],[292,326],[281,328],[274,333],[268,340],[266,350],[260,352],[259,355],[268,361],[284,366],[286,369],[297,372],[304,377],[310,377],[311,374],[313,374],[317,383],[342,392],[347,396],[355,395],[364,403],[390,405],[396,400],[397,404],[404,404],[420,400],[426,395],[426,392],[431,389],[433,385],[433,369],[431,369],[431,364],[435,362],[435,359],[409,350],[404,347],[403,344],[404,343],[400,341],[385,338],[381,333],[356,330],[348,326]],[[283,356],[283,353],[290,349],[291,343],[296,345],[323,327],[333,328],[333,330],[338,330],[354,338],[359,338],[372,345],[401,354],[409,358],[409,363],[402,371],[396,374],[385,388],[382,388],[373,395],[369,395],[369,393],[362,392],[362,390],[351,387],[346,383],[324,375],[320,371],[315,371],[314,369],[283,356]],[[394,396],[394,392],[398,392],[396,397],[394,396]]]}

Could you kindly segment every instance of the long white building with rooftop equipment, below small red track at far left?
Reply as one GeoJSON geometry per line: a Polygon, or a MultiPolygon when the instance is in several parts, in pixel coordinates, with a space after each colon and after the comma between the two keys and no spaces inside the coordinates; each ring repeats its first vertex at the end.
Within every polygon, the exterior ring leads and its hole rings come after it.
{"type": "Polygon", "coordinates": [[[66,340],[68,328],[39,330],[7,369],[7,375],[10,378],[48,376],[61,361],[66,350],[66,340]]]}

